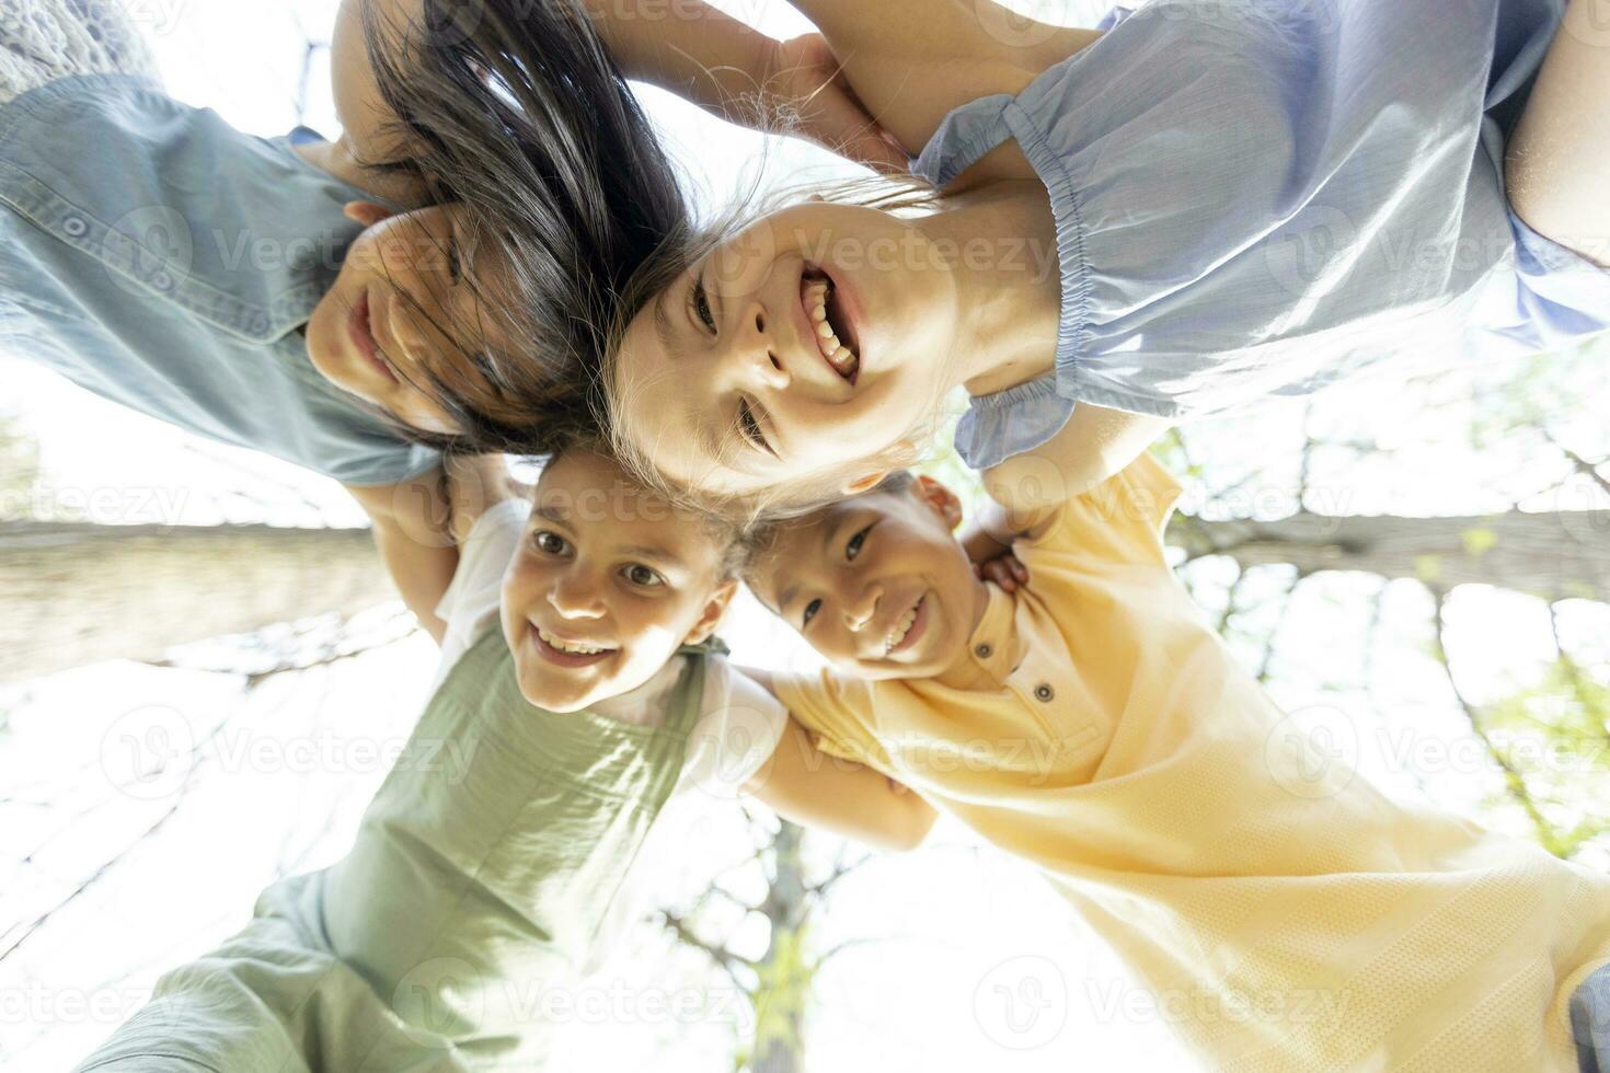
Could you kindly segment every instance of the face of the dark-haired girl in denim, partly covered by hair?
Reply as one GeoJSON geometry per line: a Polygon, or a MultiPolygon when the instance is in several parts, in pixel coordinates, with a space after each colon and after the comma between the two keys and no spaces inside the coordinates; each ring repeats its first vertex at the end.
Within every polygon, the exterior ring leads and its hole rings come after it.
{"type": "Polygon", "coordinates": [[[433,370],[467,384],[472,401],[477,388],[489,396],[480,356],[488,347],[510,349],[486,307],[499,290],[499,265],[489,256],[472,259],[475,243],[464,233],[460,206],[391,214],[353,203],[348,214],[369,227],[308,322],[314,367],[411,428],[460,431],[422,386],[431,383],[427,370],[433,370]]]}

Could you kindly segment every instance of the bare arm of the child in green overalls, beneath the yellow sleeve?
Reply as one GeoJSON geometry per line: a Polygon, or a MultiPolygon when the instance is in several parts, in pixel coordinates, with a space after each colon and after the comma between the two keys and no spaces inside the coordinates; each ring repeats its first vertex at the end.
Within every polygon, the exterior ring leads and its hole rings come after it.
{"type": "Polygon", "coordinates": [[[784,819],[879,849],[914,849],[937,817],[934,806],[894,779],[823,753],[794,719],[744,791],[784,819]]]}

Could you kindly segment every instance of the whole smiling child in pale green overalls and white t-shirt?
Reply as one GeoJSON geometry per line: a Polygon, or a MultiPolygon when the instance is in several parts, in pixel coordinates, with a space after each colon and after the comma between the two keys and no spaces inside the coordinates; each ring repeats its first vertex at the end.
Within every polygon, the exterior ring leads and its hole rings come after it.
{"type": "Polygon", "coordinates": [[[828,763],[724,660],[729,532],[588,446],[535,502],[501,484],[456,489],[443,672],[351,853],[266,890],[80,1070],[530,1070],[668,800],[724,783],[876,845],[926,835],[919,798],[828,763]]]}

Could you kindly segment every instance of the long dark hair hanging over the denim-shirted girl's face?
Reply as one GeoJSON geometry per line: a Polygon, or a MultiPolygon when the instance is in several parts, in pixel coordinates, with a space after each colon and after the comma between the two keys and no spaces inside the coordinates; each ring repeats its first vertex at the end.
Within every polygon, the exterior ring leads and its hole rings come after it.
{"type": "Polygon", "coordinates": [[[365,164],[462,206],[477,248],[509,269],[491,288],[469,265],[475,323],[435,325],[469,360],[430,362],[414,384],[462,434],[407,434],[549,454],[591,421],[626,282],[686,228],[676,169],[575,0],[425,0],[417,24],[380,18],[364,8],[364,43],[399,117],[386,134],[409,150],[365,164]],[[518,349],[489,352],[488,323],[518,349]]]}

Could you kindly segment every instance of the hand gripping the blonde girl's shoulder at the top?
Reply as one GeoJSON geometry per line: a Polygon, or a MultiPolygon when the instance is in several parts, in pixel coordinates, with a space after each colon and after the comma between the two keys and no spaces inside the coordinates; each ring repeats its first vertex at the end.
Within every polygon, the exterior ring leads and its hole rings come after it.
{"type": "Polygon", "coordinates": [[[868,167],[906,171],[905,150],[866,114],[840,71],[826,37],[802,34],[771,47],[760,82],[773,108],[799,117],[797,134],[868,167]]]}

